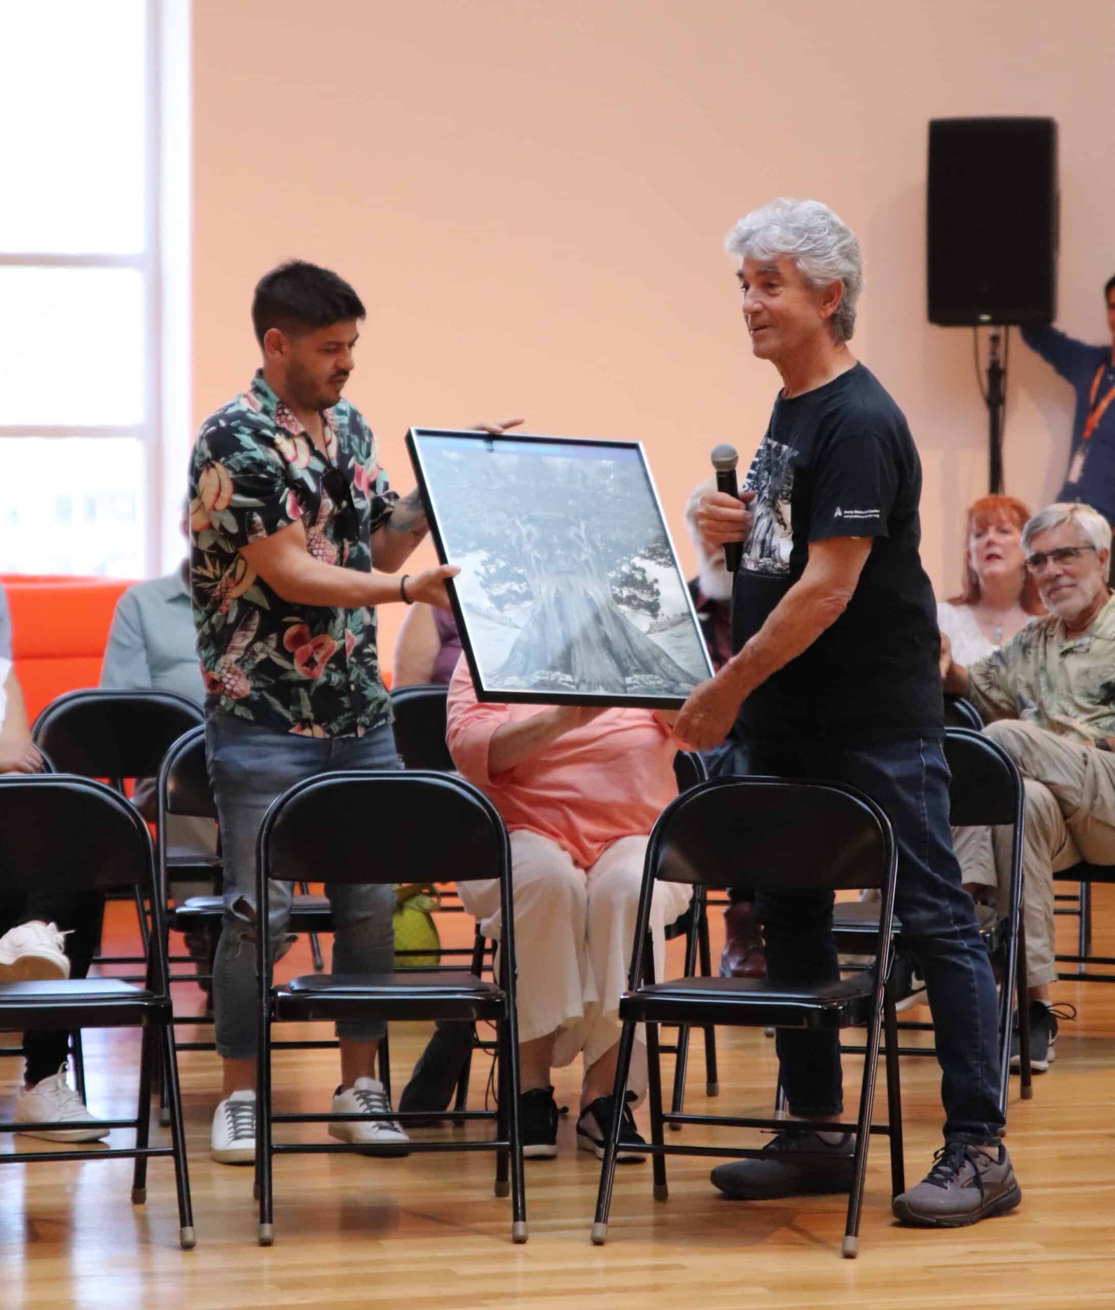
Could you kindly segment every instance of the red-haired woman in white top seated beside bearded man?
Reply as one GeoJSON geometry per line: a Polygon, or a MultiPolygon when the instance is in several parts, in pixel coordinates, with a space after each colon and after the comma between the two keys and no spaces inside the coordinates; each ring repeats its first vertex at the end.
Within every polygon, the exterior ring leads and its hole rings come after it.
{"type": "Polygon", "coordinates": [[[937,605],[937,625],[953,659],[973,664],[998,650],[1044,613],[1022,555],[1030,511],[1009,495],[985,495],[968,507],[964,532],[964,588],[937,605]]]}

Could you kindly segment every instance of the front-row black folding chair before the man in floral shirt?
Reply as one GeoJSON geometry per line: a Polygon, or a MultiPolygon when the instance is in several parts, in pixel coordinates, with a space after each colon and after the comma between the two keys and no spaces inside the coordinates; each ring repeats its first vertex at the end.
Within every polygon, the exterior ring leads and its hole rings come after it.
{"type": "Polygon", "coordinates": [[[406,869],[411,880],[434,880],[453,837],[459,882],[499,879],[503,920],[499,985],[473,973],[406,971],[387,975],[309,975],[275,985],[269,914],[258,916],[255,967],[259,986],[255,1180],[259,1243],[274,1241],[273,1157],[280,1153],[366,1151],[355,1142],[274,1142],[271,1125],[352,1123],[397,1119],[495,1120],[493,1140],[411,1142],[411,1151],[494,1150],[495,1195],[511,1192],[511,1237],[527,1241],[523,1138],[519,1121],[519,1034],[515,1014],[515,918],[511,904],[511,850],[507,829],[487,798],[461,778],[434,772],[366,770],[328,773],[286,791],[267,811],[259,831],[257,904],[267,904],[269,879],[296,882],[328,869],[330,883],[392,883],[406,869]],[[390,815],[376,831],[369,858],[362,816],[390,815]],[[276,1115],[271,1108],[271,1024],[282,1022],[490,1020],[498,1039],[498,1110],[451,1110],[442,1115],[346,1114],[276,1115]],[[511,1182],[508,1184],[508,1162],[511,1182]]]}

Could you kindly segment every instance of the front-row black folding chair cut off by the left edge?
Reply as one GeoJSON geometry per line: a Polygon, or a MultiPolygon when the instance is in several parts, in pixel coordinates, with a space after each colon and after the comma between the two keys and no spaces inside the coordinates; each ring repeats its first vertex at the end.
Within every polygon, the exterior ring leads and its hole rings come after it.
{"type": "MultiPolygon", "coordinates": [[[[142,985],[100,977],[0,982],[0,1028],[143,1030],[135,1117],[101,1120],[106,1128],[134,1128],[135,1146],[7,1151],[0,1154],[0,1162],[132,1158],[131,1199],[139,1205],[147,1200],[147,1161],[152,1155],[172,1155],[178,1188],[178,1238],[182,1247],[190,1250],[197,1238],[172,1027],[165,899],[156,875],[151,834],[136,810],[101,782],[64,774],[8,774],[0,777],[0,850],[9,884],[30,887],[51,879],[75,892],[135,888],[138,897],[149,899],[153,924],[142,985]],[[170,1107],[170,1146],[149,1145],[151,1085],[160,1055],[170,1107]]],[[[22,1127],[0,1123],[0,1132],[18,1132],[22,1127]]],[[[64,1121],[41,1123],[37,1129],[52,1132],[72,1127],[64,1121]]]]}

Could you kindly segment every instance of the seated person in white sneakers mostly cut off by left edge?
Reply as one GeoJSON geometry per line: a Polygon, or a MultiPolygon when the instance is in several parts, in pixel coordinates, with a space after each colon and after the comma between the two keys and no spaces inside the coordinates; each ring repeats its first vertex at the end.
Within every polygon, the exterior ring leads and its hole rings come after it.
{"type": "MultiPolygon", "coordinates": [[[[39,773],[43,760],[31,745],[24,694],[12,668],[12,625],[0,587],[0,773],[39,773]]],[[[59,892],[50,886],[14,893],[0,886],[0,982],[30,979],[84,979],[101,935],[105,899],[100,892],[59,892]]],[[[68,1032],[24,1034],[24,1083],[12,1116],[25,1137],[90,1142],[109,1136],[66,1082],[68,1032]],[[72,1123],[39,1132],[35,1124],[72,1123]]]]}

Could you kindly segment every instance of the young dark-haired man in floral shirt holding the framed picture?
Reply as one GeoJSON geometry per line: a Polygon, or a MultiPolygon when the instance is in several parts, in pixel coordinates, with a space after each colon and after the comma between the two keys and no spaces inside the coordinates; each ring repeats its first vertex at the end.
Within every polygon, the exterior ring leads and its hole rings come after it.
{"type": "MultiPolygon", "coordinates": [[[[380,576],[405,563],[427,524],[417,491],[400,499],[388,490],[371,428],[341,400],[364,318],[355,291],[326,269],[282,265],[257,286],[252,318],[263,367],[202,424],[190,466],[190,582],[225,888],[214,977],[224,1091],[212,1155],[231,1165],[252,1163],[255,1151],[257,992],[246,941],[263,814],[313,774],[398,766],[376,607],[447,608],[445,579],[457,572],[445,565],[380,576]]],[[[392,888],[338,887],[331,901],[334,971],[389,972],[392,888]]],[[[290,908],[290,889],[273,883],[276,941],[290,908]]],[[[338,1026],[334,1114],[389,1110],[372,1077],[381,1035],[383,1024],[338,1026]]],[[[330,1133],[394,1153],[407,1141],[388,1121],[333,1124],[330,1133]]]]}

